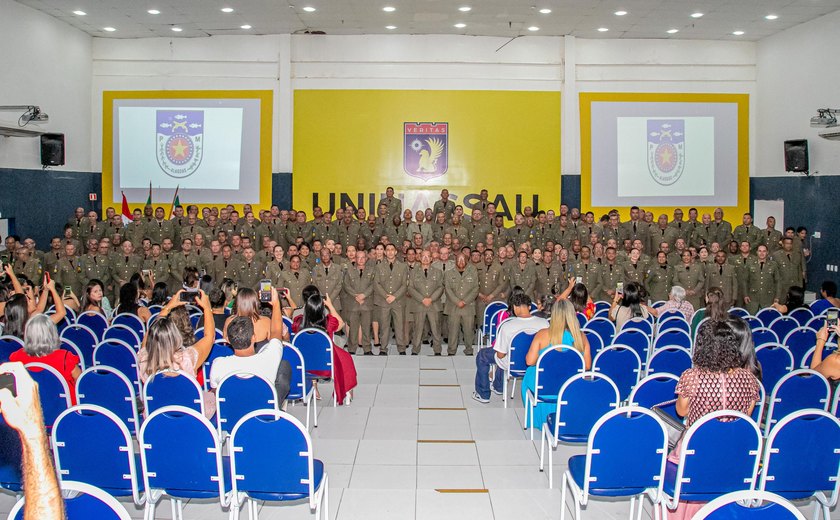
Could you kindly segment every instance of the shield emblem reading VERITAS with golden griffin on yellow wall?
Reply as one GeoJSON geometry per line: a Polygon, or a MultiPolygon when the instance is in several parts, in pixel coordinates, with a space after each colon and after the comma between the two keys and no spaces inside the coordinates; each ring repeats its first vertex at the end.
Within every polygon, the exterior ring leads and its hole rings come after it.
{"type": "Polygon", "coordinates": [[[427,181],[449,169],[449,123],[404,123],[403,169],[427,181]]]}

